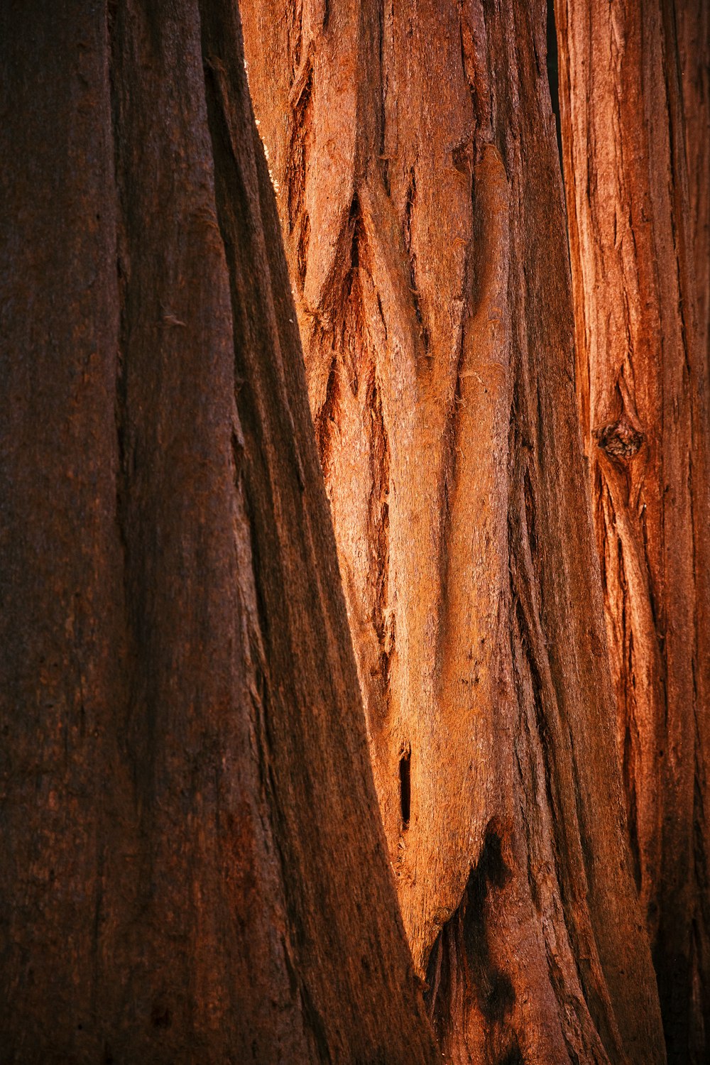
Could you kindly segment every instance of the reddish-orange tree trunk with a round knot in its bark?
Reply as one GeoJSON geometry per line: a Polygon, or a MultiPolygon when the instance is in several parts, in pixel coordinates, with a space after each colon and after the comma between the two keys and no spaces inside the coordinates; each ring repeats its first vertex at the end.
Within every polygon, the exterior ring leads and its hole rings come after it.
{"type": "Polygon", "coordinates": [[[710,1044],[708,5],[559,0],[577,335],[616,733],[670,1058],[710,1044]]]}

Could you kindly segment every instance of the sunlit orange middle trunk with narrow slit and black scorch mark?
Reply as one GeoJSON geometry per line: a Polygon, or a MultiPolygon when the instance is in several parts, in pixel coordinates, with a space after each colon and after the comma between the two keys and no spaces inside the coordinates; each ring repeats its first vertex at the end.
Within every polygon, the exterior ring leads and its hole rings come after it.
{"type": "Polygon", "coordinates": [[[442,1050],[660,1062],[545,9],[242,14],[390,857],[442,1050]]]}

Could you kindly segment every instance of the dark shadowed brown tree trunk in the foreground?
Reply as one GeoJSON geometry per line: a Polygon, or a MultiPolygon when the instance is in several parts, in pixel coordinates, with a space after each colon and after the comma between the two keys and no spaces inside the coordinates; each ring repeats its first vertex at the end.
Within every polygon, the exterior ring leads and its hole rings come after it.
{"type": "Polygon", "coordinates": [[[236,9],[0,49],[0,1059],[431,1063],[236,9]]]}

